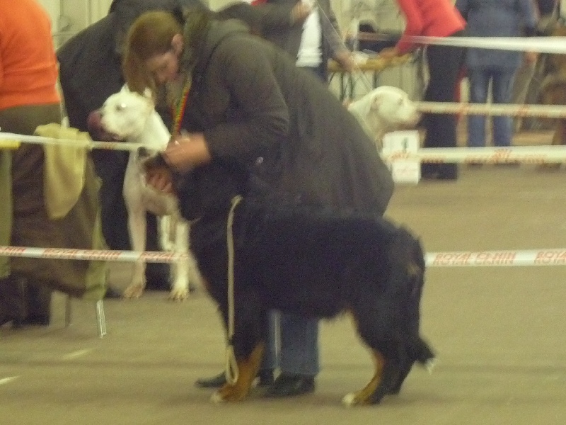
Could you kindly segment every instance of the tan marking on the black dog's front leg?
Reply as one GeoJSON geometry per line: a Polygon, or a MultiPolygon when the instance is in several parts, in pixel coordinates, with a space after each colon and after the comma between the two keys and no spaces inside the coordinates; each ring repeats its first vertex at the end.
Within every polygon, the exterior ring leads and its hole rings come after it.
{"type": "Polygon", "coordinates": [[[252,382],[260,369],[264,345],[263,343],[258,344],[248,358],[237,361],[238,380],[216,391],[212,395],[213,402],[238,402],[248,395],[252,382]]]}

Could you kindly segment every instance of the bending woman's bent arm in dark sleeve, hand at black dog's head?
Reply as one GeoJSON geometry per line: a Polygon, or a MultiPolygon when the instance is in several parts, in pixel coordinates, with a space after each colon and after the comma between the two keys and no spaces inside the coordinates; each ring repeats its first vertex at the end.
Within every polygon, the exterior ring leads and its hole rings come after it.
{"type": "MultiPolygon", "coordinates": [[[[213,157],[249,166],[263,153],[273,152],[289,130],[289,111],[272,64],[262,55],[259,39],[226,38],[216,47],[212,69],[222,69],[226,93],[238,105],[238,118],[224,120],[202,133],[181,135],[163,154],[173,169],[186,171],[213,157]]],[[[151,176],[148,179],[151,182],[151,176]]]]}

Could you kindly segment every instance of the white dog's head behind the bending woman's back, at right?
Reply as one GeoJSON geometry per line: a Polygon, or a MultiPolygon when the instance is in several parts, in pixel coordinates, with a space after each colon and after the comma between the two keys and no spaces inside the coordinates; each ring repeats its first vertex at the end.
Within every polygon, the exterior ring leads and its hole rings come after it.
{"type": "Polygon", "coordinates": [[[393,86],[379,86],[348,106],[366,133],[381,149],[386,132],[412,128],[420,120],[416,104],[405,91],[393,86]]]}

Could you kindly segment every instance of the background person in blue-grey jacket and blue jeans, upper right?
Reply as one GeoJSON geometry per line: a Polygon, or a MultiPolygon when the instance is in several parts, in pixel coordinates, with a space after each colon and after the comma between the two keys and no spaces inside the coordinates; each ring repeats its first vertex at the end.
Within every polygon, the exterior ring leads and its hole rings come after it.
{"type": "MultiPolygon", "coordinates": [[[[519,37],[536,33],[537,13],[532,0],[457,0],[456,8],[468,21],[470,37],[519,37]]],[[[469,49],[466,69],[470,102],[486,103],[491,84],[493,103],[509,103],[522,57],[529,63],[536,61],[534,52],[469,49]]],[[[468,147],[485,146],[485,123],[485,115],[468,117],[468,147]]],[[[511,118],[492,117],[492,144],[510,146],[512,137],[511,118]]]]}

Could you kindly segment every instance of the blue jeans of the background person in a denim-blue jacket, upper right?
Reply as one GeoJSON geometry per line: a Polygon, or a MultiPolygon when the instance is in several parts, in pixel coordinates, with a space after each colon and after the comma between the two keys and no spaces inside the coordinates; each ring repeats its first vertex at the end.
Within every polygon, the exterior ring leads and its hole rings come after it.
{"type": "MultiPolygon", "coordinates": [[[[487,91],[492,84],[493,103],[509,103],[512,96],[514,69],[473,68],[468,69],[470,80],[470,102],[486,103],[487,91]]],[[[468,118],[468,146],[485,146],[485,115],[470,115],[468,118]]],[[[507,116],[492,117],[492,144],[510,146],[513,137],[512,120],[507,116]]]]}

